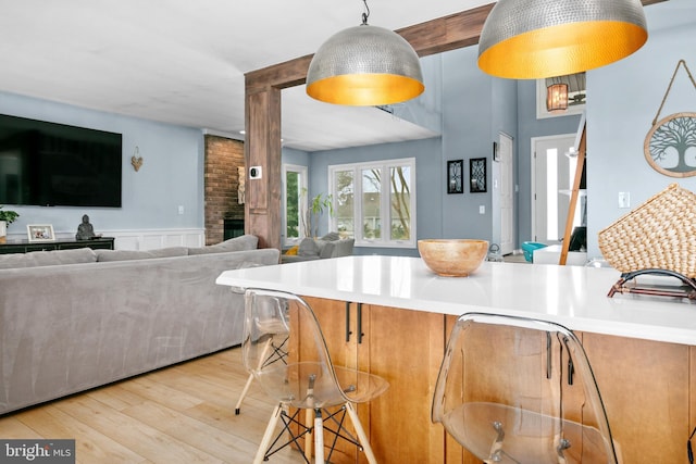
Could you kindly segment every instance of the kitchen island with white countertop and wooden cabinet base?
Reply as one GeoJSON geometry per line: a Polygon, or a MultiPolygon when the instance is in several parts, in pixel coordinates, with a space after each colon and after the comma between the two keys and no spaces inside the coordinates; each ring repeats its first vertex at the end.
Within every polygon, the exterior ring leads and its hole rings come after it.
{"type": "Polygon", "coordinates": [[[608,298],[619,276],[608,268],[485,262],[470,277],[439,277],[418,258],[372,255],[229,271],[217,284],[306,297],[332,356],[387,378],[385,398],[361,411],[380,462],[473,462],[430,423],[430,400],[456,317],[485,312],[574,330],[623,462],[686,463],[696,425],[696,304],[608,298]]]}

